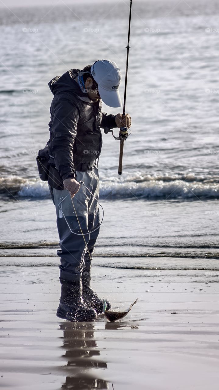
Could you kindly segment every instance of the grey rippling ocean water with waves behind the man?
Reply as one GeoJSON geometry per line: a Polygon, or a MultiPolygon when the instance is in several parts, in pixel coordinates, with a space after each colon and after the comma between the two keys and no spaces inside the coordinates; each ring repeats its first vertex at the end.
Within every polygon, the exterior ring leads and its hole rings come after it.
{"type": "MultiPolygon", "coordinates": [[[[128,6],[128,0],[86,4],[86,14],[77,2],[1,9],[2,264],[57,262],[55,210],[35,163],[49,137],[48,82],[108,58],[122,70],[123,96],[128,6]]],[[[105,218],[97,263],[116,266],[113,257],[119,256],[121,267],[214,270],[219,7],[212,0],[208,6],[202,0],[134,1],[132,7],[127,85],[132,128],[121,177],[119,143],[103,133],[99,172],[105,218]]]]}

